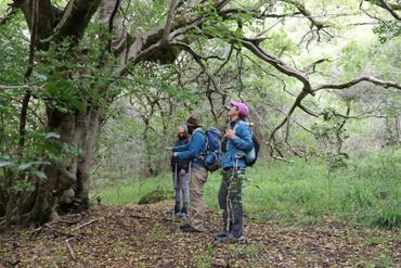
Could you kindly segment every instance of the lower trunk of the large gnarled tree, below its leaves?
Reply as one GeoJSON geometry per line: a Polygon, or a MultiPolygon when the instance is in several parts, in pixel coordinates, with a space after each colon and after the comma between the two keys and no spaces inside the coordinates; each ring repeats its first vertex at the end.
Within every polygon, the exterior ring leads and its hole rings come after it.
{"type": "Polygon", "coordinates": [[[48,110],[50,131],[59,132],[61,141],[81,152],[64,166],[52,164],[44,167],[47,180],[40,183],[31,209],[38,224],[59,219],[60,208],[82,210],[89,207],[90,164],[103,112],[88,109],[78,114],[48,110]]]}

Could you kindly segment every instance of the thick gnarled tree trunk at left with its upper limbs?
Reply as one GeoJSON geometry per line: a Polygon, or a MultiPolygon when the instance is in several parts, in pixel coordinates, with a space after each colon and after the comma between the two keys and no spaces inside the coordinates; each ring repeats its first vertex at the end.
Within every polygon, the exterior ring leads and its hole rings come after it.
{"type": "MultiPolygon", "coordinates": [[[[31,49],[42,51],[51,49],[54,52],[60,43],[68,38],[72,40],[69,46],[73,51],[74,47],[79,44],[90,21],[94,20],[93,14],[99,10],[96,20],[104,25],[106,30],[99,37],[99,41],[107,43],[105,51],[120,60],[120,66],[116,68],[114,75],[127,75],[129,64],[143,60],[173,61],[177,56],[177,49],[170,49],[167,46],[166,34],[169,33],[166,33],[165,27],[156,27],[130,37],[124,29],[121,17],[117,14],[119,4],[119,0],[103,0],[102,2],[100,0],[70,0],[62,11],[52,5],[50,0],[14,1],[14,7],[23,11],[30,29],[31,49]],[[114,35],[114,40],[107,39],[111,34],[114,35]]],[[[99,68],[106,64],[101,56],[99,68]]],[[[60,72],[62,77],[69,76],[65,75],[69,73],[68,69],[60,72]]],[[[105,100],[105,103],[112,102],[113,97],[109,95],[107,86],[96,87],[94,85],[91,90],[105,100]]],[[[60,142],[79,150],[79,155],[72,157],[63,165],[56,163],[46,165],[43,171],[47,179],[36,180],[35,191],[26,196],[1,195],[0,227],[18,222],[43,224],[57,220],[61,207],[74,207],[79,210],[88,208],[91,156],[100,124],[104,119],[105,107],[93,104],[90,100],[80,101],[83,103],[81,111],[73,109],[61,112],[52,106],[53,104],[47,107],[47,131],[59,133],[60,142]]]]}

